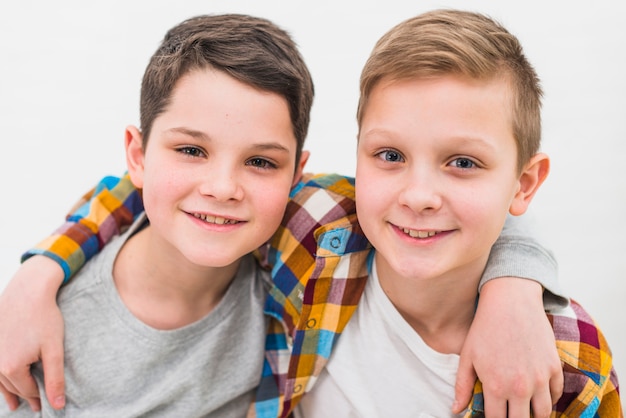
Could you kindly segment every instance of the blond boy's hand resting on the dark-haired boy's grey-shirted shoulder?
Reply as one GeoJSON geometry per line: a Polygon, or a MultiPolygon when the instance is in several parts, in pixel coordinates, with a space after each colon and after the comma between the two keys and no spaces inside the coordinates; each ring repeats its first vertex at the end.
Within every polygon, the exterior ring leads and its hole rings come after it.
{"type": "Polygon", "coordinates": [[[56,294],[63,270],[52,259],[33,256],[15,273],[0,295],[0,392],[9,407],[24,398],[41,409],[31,364],[43,364],[46,395],[55,409],[65,406],[63,317],[56,294]]]}

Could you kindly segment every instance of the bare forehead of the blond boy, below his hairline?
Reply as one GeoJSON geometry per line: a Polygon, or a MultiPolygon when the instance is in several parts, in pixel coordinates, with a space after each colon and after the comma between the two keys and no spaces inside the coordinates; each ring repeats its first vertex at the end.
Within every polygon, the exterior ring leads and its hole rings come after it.
{"type": "Polygon", "coordinates": [[[511,144],[515,142],[511,114],[505,80],[459,76],[382,80],[372,89],[360,139],[402,139],[409,141],[406,145],[423,145],[423,139],[481,138],[511,144]]]}

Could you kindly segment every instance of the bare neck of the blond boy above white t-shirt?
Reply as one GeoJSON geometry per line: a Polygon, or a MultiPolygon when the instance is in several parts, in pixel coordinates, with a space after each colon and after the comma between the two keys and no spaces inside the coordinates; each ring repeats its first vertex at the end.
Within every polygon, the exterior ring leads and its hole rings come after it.
{"type": "Polygon", "coordinates": [[[486,259],[437,276],[406,277],[376,256],[380,285],[398,312],[433,350],[460,354],[471,326],[486,259]]]}

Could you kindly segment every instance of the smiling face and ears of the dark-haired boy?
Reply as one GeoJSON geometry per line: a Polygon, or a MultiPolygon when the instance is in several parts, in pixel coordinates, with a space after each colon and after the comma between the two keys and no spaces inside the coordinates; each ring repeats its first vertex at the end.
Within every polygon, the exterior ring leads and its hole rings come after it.
{"type": "Polygon", "coordinates": [[[127,131],[152,242],[200,266],[231,265],[272,236],[306,161],[295,170],[295,158],[286,100],[214,70],[178,81],[145,150],[127,131]]]}

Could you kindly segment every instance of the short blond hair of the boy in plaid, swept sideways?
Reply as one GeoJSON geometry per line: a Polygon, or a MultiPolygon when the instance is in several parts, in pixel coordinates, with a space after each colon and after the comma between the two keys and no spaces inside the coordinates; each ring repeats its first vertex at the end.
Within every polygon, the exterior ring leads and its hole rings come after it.
{"type": "Polygon", "coordinates": [[[369,95],[383,78],[403,80],[462,75],[489,80],[503,77],[512,90],[512,129],[518,169],[539,150],[539,78],[519,40],[495,20],[461,10],[434,10],[408,19],[376,43],[361,73],[359,127],[369,95]]]}

